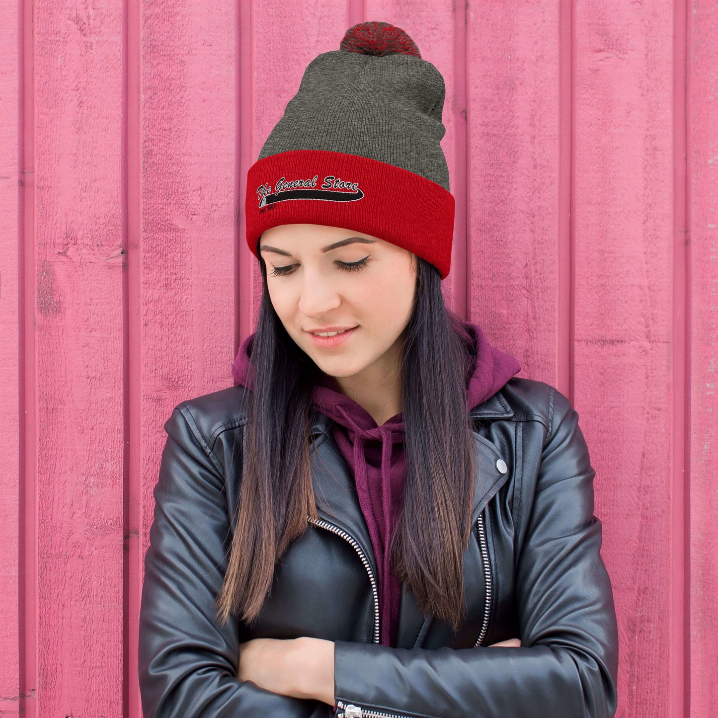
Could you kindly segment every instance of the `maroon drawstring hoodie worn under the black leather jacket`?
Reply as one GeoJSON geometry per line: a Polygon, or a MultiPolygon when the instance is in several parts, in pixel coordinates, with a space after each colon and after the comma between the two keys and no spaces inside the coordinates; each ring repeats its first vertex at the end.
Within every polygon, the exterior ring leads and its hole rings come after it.
{"type": "MultiPolygon", "coordinates": [[[[503,387],[521,370],[521,364],[491,346],[479,325],[462,320],[452,319],[452,322],[473,357],[466,389],[467,411],[470,411],[503,387]]],[[[251,334],[242,342],[232,367],[236,383],[250,389],[253,337],[251,334]]],[[[332,435],[354,472],[359,503],[376,556],[381,643],[393,646],[401,582],[389,565],[384,547],[398,521],[404,493],[404,416],[400,412],[377,426],[371,414],[341,393],[335,379],[327,375],[314,386],[312,402],[322,414],[334,420],[332,435]]]]}

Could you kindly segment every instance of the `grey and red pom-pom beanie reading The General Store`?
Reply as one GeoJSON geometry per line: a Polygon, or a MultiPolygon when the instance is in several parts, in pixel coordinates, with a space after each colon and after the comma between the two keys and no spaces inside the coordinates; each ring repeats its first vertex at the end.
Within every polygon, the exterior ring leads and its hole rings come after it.
{"type": "Polygon", "coordinates": [[[444,79],[404,30],[350,27],[309,63],[249,168],[246,238],[284,224],[369,234],[449,274],[454,197],[439,144],[444,79]]]}

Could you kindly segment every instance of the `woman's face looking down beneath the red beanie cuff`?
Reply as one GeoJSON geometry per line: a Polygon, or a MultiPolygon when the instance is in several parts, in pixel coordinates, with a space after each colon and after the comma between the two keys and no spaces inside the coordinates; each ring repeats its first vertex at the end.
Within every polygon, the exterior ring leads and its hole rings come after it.
{"type": "Polygon", "coordinates": [[[414,302],[416,255],[369,234],[311,224],[266,230],[259,248],[274,310],[320,369],[371,381],[396,366],[414,302]],[[337,346],[317,345],[310,332],[332,331],[327,327],[357,329],[337,346]]]}

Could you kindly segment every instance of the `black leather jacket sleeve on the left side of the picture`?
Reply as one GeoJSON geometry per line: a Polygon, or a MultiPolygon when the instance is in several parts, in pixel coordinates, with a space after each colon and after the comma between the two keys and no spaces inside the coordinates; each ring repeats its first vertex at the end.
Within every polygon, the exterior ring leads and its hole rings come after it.
{"type": "Polygon", "coordinates": [[[144,718],[332,715],[327,704],[237,678],[238,618],[230,615],[223,627],[214,606],[230,546],[223,470],[183,411],[180,404],[164,424],[144,559],[138,671],[144,718]]]}

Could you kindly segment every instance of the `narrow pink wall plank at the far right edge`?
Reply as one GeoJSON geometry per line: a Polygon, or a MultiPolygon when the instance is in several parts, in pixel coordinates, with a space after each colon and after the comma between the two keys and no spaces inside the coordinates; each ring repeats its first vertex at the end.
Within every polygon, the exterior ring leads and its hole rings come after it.
{"type": "Polygon", "coordinates": [[[690,716],[718,714],[718,6],[688,3],[690,716]]]}

